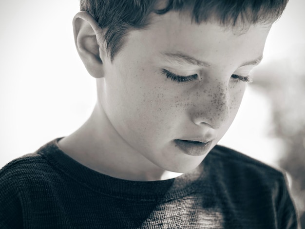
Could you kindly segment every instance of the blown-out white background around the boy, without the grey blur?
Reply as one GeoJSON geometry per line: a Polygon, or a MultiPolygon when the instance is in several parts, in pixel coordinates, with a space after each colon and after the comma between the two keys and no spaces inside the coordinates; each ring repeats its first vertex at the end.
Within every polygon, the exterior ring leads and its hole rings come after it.
{"type": "MultiPolygon", "coordinates": [[[[77,0],[0,1],[0,168],[75,131],[95,104],[95,80],[74,47],[77,0]]],[[[290,0],[269,35],[265,61],[305,42],[305,1],[290,0]]],[[[276,166],[268,99],[248,88],[221,144],[276,166]],[[264,151],[262,149],[264,148],[264,151]]]]}

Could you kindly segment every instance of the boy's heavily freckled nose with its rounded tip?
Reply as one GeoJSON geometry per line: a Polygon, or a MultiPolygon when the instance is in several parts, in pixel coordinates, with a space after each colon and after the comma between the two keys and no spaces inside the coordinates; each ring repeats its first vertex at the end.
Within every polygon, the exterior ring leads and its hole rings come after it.
{"type": "Polygon", "coordinates": [[[195,93],[191,119],[196,125],[208,124],[218,130],[229,120],[228,86],[206,84],[195,93]]]}

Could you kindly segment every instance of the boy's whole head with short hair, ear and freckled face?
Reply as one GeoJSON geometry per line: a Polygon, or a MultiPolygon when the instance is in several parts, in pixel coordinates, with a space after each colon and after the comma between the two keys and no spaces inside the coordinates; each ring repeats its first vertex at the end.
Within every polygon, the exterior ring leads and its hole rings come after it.
{"type": "Polygon", "coordinates": [[[228,130],[287,0],[80,2],[76,48],[113,144],[188,172],[228,130]]]}

